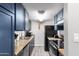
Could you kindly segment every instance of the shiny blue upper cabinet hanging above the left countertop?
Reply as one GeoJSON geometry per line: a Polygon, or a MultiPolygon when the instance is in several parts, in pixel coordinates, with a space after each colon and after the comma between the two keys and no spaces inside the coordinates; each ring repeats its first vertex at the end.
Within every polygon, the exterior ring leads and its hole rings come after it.
{"type": "Polygon", "coordinates": [[[24,14],[24,7],[22,4],[15,4],[16,5],[16,12],[15,12],[15,30],[16,31],[24,31],[25,30],[25,14],[24,14]]]}

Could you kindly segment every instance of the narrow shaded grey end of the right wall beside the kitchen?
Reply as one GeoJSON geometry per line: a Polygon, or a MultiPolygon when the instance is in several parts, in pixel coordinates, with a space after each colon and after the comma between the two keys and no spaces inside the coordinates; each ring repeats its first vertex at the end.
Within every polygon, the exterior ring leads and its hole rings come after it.
{"type": "Polygon", "coordinates": [[[68,55],[68,6],[64,4],[64,54],[68,55]]]}

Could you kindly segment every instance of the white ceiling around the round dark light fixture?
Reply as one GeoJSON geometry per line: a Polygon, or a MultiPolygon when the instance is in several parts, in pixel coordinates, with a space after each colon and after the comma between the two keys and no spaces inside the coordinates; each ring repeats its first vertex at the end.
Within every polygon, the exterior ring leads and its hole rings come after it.
{"type": "Polygon", "coordinates": [[[29,19],[35,21],[52,20],[54,15],[64,7],[63,3],[24,3],[23,5],[29,13],[29,19]],[[39,10],[45,13],[39,14],[39,10]]]}

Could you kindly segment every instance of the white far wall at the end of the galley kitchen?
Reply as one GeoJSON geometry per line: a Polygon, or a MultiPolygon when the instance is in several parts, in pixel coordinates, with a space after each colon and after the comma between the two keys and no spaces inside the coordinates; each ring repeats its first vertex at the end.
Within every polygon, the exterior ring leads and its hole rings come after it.
{"type": "Polygon", "coordinates": [[[54,21],[49,20],[40,24],[40,29],[38,28],[38,22],[32,21],[31,23],[31,31],[35,34],[35,46],[44,46],[44,26],[45,25],[54,25],[54,21]]]}

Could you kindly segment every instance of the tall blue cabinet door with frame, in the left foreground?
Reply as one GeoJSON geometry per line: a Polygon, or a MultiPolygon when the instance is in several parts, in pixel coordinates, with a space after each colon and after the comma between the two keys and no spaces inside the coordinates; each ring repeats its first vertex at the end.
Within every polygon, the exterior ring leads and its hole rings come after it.
{"type": "Polygon", "coordinates": [[[0,5],[0,56],[13,55],[14,14],[0,5]]]}

